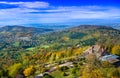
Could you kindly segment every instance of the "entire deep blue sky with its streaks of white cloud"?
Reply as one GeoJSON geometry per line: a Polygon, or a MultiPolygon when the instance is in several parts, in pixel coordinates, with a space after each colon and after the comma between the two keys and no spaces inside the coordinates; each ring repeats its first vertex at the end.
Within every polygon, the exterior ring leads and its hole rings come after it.
{"type": "Polygon", "coordinates": [[[120,0],[0,0],[0,25],[119,22],[120,0]]]}

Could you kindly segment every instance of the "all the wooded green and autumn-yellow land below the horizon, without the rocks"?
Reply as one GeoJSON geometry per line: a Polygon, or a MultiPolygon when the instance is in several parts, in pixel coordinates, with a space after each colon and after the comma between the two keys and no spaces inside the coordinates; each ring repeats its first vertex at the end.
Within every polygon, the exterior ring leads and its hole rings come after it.
{"type": "Polygon", "coordinates": [[[81,56],[95,44],[110,54],[120,56],[120,31],[96,25],[80,25],[59,31],[21,26],[2,27],[0,76],[34,78],[56,66],[56,71],[45,74],[43,78],[97,78],[97,75],[100,78],[119,78],[119,67],[100,62],[93,55],[89,59],[81,56]],[[66,62],[72,62],[73,67],[59,66],[66,62]]]}

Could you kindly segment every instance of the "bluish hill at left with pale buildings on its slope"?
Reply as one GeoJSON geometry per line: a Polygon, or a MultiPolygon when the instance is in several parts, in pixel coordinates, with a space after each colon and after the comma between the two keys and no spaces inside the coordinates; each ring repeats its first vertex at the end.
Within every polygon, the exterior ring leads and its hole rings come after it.
{"type": "Polygon", "coordinates": [[[0,28],[0,49],[8,47],[29,47],[31,44],[34,46],[36,41],[32,41],[35,35],[41,35],[48,32],[53,32],[53,29],[24,27],[24,26],[4,26],[0,28]],[[31,43],[32,42],[32,43],[31,43]],[[28,43],[28,44],[26,44],[28,43]]]}

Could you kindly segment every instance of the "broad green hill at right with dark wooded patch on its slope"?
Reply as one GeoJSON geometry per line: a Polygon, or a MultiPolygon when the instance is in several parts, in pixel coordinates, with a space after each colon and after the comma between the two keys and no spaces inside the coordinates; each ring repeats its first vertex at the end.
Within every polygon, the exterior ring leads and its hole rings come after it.
{"type": "MultiPolygon", "coordinates": [[[[120,31],[112,27],[80,25],[44,35],[44,41],[58,48],[72,46],[91,46],[96,43],[107,44],[119,41],[120,31]],[[108,41],[108,42],[107,42],[108,41]],[[59,45],[58,45],[59,44],[59,45]],[[55,46],[58,45],[59,47],[55,46]]],[[[42,42],[44,42],[42,41],[42,42]]]]}

